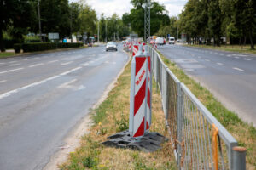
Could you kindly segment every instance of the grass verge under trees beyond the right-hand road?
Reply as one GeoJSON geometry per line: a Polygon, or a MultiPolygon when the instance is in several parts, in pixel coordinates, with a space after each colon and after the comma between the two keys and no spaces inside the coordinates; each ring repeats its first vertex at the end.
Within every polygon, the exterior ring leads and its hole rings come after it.
{"type": "MultiPolygon", "coordinates": [[[[251,46],[240,46],[240,45],[223,45],[220,47],[212,46],[212,45],[185,45],[188,47],[195,47],[195,48],[208,48],[208,49],[216,49],[216,50],[223,50],[235,53],[246,53],[246,54],[256,54],[256,50],[252,50],[251,46]]],[[[255,46],[256,48],[256,46],[255,46]]]]}

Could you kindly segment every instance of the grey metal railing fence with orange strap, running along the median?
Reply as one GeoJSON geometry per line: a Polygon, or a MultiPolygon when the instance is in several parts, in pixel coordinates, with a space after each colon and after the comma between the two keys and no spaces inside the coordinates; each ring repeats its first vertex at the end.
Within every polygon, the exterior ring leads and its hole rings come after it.
{"type": "Polygon", "coordinates": [[[180,169],[246,169],[246,150],[148,47],[180,169]]]}

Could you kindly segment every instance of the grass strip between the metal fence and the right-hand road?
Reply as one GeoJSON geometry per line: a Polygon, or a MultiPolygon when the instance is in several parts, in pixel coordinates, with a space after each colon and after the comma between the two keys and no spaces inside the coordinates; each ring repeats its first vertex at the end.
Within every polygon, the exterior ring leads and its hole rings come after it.
{"type": "MultiPolygon", "coordinates": [[[[160,54],[160,52],[159,52],[160,54]]],[[[174,73],[174,75],[183,82],[193,94],[207,107],[212,115],[233,135],[240,146],[247,149],[247,167],[256,168],[256,129],[253,125],[242,122],[236,113],[229,111],[222,105],[218,99],[206,89],[201,87],[200,83],[195,82],[192,78],[184,73],[182,69],[160,54],[164,63],[174,73]]]]}

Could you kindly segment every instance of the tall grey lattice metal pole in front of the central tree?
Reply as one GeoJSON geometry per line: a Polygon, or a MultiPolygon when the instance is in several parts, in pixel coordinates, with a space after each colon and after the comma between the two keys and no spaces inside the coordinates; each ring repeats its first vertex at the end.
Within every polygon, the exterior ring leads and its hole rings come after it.
{"type": "Polygon", "coordinates": [[[144,12],[144,41],[147,42],[150,37],[150,1],[146,0],[144,12]]]}

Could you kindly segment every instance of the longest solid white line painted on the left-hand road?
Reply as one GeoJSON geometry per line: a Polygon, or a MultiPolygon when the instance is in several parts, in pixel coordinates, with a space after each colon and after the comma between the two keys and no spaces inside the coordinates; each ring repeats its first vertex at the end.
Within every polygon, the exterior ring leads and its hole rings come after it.
{"type": "Polygon", "coordinates": [[[22,87],[22,88],[16,88],[16,89],[11,90],[11,91],[9,91],[9,92],[6,92],[6,93],[4,93],[4,94],[0,94],[0,99],[6,98],[6,97],[8,97],[8,96],[10,96],[10,95],[12,95],[12,94],[17,94],[17,93],[19,93],[19,92],[22,91],[22,90],[25,90],[25,89],[27,89],[27,88],[35,87],[35,86],[37,86],[37,85],[39,85],[39,84],[42,84],[42,83],[44,83],[44,82],[49,82],[50,80],[54,80],[54,79],[56,79],[56,78],[58,78],[58,77],[65,76],[65,75],[67,75],[68,73],[71,73],[71,72],[73,72],[73,71],[77,71],[77,70],[79,70],[79,69],[81,69],[81,68],[82,68],[82,67],[77,67],[77,68],[74,68],[74,69],[72,69],[72,70],[70,70],[70,71],[63,72],[63,73],[61,73],[61,74],[59,74],[59,75],[56,75],[56,76],[53,76],[53,77],[48,77],[48,78],[46,78],[46,79],[44,79],[44,80],[42,80],[42,81],[33,82],[32,84],[26,85],[26,86],[24,86],[24,87],[22,87]]]}

